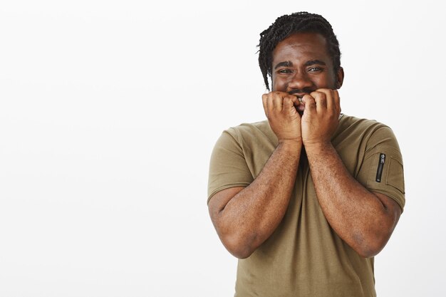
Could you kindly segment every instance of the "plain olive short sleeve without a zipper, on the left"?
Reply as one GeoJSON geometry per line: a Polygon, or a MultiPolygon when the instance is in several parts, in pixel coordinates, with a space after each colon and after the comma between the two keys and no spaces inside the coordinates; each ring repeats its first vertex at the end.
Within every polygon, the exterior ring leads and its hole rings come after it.
{"type": "Polygon", "coordinates": [[[230,187],[247,187],[254,180],[239,144],[237,131],[225,130],[214,145],[209,162],[207,202],[230,187]]]}

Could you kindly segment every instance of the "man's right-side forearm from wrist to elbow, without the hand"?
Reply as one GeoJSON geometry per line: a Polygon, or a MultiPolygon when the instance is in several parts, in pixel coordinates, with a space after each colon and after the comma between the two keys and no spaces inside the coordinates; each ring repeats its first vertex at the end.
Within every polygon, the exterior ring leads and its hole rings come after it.
{"type": "Polygon", "coordinates": [[[331,143],[308,146],[306,153],[319,204],[332,228],[361,256],[378,254],[395,227],[395,216],[351,176],[331,143]]]}

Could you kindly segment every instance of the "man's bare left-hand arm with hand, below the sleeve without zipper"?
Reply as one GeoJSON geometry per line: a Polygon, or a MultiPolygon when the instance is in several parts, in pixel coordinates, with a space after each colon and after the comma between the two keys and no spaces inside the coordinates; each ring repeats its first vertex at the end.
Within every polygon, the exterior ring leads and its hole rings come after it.
{"type": "Polygon", "coordinates": [[[240,259],[250,256],[283,219],[302,147],[296,97],[272,92],[262,99],[279,145],[248,187],[224,189],[209,201],[209,214],[219,238],[240,259]]]}

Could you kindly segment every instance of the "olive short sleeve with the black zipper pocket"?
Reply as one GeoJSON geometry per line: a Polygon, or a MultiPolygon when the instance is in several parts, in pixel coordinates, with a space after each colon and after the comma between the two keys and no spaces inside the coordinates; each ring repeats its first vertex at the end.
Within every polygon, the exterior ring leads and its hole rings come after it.
{"type": "Polygon", "coordinates": [[[370,192],[385,194],[405,205],[403,157],[395,135],[389,127],[380,127],[368,140],[363,165],[358,174],[370,192]]]}

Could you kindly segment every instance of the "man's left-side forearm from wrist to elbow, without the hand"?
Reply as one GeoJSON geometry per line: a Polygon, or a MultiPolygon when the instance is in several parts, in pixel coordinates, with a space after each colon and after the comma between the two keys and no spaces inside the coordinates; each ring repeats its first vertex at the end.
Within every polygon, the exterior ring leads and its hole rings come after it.
{"type": "Polygon", "coordinates": [[[301,141],[279,142],[254,182],[219,210],[215,219],[223,244],[246,258],[283,219],[296,179],[301,141]]]}

